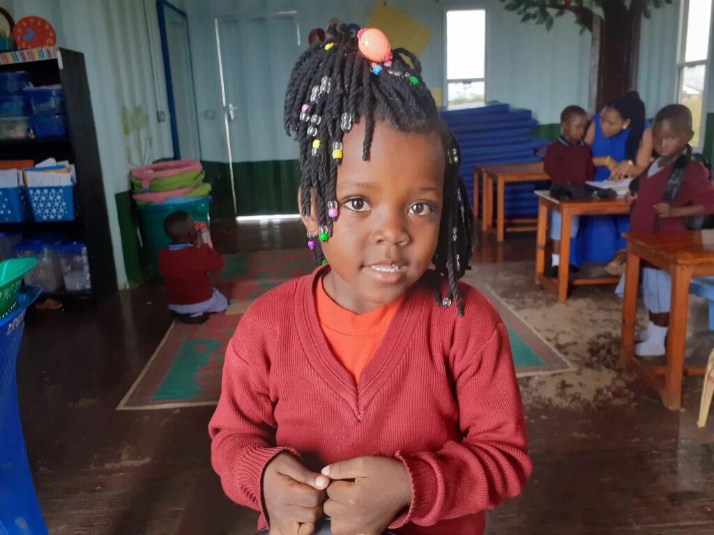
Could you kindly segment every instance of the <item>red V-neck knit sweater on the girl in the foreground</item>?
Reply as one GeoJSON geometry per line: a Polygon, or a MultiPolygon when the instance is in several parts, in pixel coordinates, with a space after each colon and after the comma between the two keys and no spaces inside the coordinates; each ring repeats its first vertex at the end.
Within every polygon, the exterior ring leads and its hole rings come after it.
{"type": "Polygon", "coordinates": [[[506,327],[461,285],[466,316],[434,302],[432,272],[411,287],[356,385],[318,322],[320,270],[261,297],[243,316],[208,424],[223,490],[261,511],[266,464],[298,454],[310,469],[363,455],[400,459],[413,486],[401,534],[483,532],[484,509],[531,474],[506,327]],[[299,453],[298,453],[299,452],[299,453]]]}

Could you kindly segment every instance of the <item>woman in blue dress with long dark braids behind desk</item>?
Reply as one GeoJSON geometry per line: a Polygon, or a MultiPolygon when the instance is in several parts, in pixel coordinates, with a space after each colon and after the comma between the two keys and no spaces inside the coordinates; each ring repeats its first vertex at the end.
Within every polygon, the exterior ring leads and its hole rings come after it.
{"type": "MultiPolygon", "coordinates": [[[[595,181],[635,177],[650,165],[652,131],[645,123],[645,104],[636,91],[610,101],[593,116],[585,134],[593,150],[595,181]]],[[[574,265],[585,262],[619,264],[618,251],[626,248],[623,233],[630,230],[629,215],[598,215],[580,221],[575,238],[574,265]]],[[[617,269],[617,268],[615,268],[617,269]]]]}

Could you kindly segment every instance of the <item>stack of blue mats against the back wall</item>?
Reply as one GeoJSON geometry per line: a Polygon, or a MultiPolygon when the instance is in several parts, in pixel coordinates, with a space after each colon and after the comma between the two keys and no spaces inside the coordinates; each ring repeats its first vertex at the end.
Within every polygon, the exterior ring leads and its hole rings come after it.
{"type": "MultiPolygon", "coordinates": [[[[461,144],[461,176],[472,204],[474,165],[540,161],[538,151],[550,143],[533,138],[533,127],[538,121],[530,110],[512,110],[508,104],[488,103],[478,108],[442,111],[441,117],[461,144]]],[[[538,213],[538,199],[533,191],[543,187],[547,189],[547,183],[507,185],[506,218],[531,217],[538,213]]]]}

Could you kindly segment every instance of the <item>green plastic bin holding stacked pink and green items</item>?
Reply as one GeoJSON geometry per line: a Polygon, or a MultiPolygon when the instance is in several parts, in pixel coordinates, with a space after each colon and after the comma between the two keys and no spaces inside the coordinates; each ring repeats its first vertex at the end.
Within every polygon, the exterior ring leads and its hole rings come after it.
{"type": "Polygon", "coordinates": [[[174,212],[188,212],[196,221],[210,224],[211,198],[192,200],[187,203],[164,203],[147,206],[137,206],[139,210],[139,225],[141,239],[144,241],[144,251],[149,264],[156,266],[159,251],[165,248],[171,240],[164,232],[164,219],[174,212]]]}

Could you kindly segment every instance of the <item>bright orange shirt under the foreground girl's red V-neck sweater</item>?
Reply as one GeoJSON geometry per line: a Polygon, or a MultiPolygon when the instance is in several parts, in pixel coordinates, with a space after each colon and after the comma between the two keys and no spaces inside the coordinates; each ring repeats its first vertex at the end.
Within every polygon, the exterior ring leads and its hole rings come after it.
{"type": "Polygon", "coordinates": [[[362,370],[382,343],[401,299],[366,314],[355,314],[334,302],[325,292],[322,282],[320,277],[315,292],[322,332],[332,354],[359,384],[362,370]]]}

